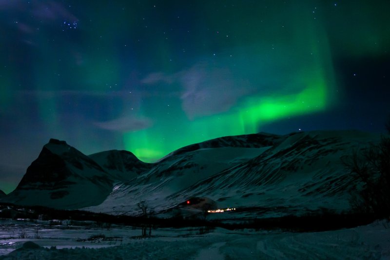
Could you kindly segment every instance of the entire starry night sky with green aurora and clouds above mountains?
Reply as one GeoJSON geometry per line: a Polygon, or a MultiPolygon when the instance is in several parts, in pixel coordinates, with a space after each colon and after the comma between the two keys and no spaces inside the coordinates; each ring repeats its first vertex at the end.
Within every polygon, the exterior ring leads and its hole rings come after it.
{"type": "Polygon", "coordinates": [[[389,0],[0,0],[0,189],[50,138],[144,161],[227,135],[384,132],[389,0]]]}

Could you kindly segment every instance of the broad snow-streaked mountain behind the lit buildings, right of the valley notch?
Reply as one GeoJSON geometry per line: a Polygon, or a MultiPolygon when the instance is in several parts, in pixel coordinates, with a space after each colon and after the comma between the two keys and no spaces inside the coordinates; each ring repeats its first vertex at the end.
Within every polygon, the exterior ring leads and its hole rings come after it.
{"type": "Polygon", "coordinates": [[[315,131],[209,140],[171,153],[87,210],[137,215],[137,203],[145,201],[161,213],[191,197],[208,197],[219,207],[259,208],[262,216],[341,212],[349,209],[354,183],[340,159],[378,139],[357,131],[315,131]]]}

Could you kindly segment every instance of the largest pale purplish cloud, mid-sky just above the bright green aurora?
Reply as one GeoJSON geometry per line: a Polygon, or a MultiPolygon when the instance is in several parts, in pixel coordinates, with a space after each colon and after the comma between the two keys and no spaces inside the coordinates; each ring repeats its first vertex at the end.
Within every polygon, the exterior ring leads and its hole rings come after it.
{"type": "Polygon", "coordinates": [[[238,99],[251,93],[249,84],[234,80],[227,68],[213,67],[207,62],[199,62],[187,70],[168,75],[151,73],[143,84],[179,82],[181,107],[189,119],[214,115],[229,110],[238,99]]]}

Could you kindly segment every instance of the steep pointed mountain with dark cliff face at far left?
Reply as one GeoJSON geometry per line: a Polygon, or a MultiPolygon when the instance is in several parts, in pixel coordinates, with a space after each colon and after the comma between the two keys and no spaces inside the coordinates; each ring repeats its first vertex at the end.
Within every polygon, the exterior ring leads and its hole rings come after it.
{"type": "Polygon", "coordinates": [[[51,139],[5,201],[76,209],[101,203],[114,181],[94,160],[65,141],[51,139]]]}

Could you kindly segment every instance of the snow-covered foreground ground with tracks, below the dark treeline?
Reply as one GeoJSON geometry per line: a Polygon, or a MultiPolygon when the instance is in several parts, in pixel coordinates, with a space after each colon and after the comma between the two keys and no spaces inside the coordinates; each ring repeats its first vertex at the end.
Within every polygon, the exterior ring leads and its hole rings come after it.
{"type": "Polygon", "coordinates": [[[0,259],[390,259],[388,226],[375,222],[308,233],[160,228],[142,238],[132,227],[65,229],[3,222],[0,259]],[[41,247],[31,248],[27,241],[41,247]]]}

